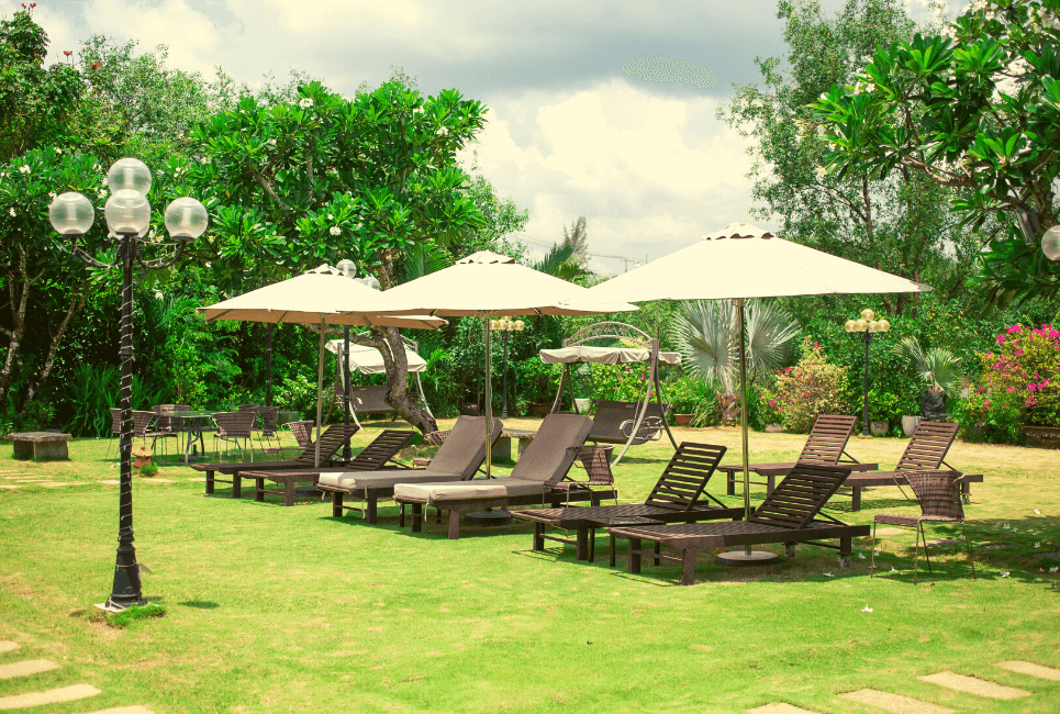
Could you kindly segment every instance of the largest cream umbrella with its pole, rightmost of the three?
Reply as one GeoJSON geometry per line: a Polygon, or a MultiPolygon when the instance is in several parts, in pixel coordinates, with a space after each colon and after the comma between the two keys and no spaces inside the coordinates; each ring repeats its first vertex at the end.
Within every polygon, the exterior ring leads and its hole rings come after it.
{"type": "MultiPolygon", "coordinates": [[[[925,292],[930,286],[730,223],[703,241],[590,289],[600,300],[735,299],[739,331],[744,512],[750,516],[744,302],[749,298],[925,292]]],[[[750,556],[750,549],[747,549],[750,556]]]]}

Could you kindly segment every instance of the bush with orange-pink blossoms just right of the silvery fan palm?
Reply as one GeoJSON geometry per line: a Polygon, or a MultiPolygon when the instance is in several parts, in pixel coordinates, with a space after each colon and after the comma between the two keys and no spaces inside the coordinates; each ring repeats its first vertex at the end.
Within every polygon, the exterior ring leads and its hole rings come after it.
{"type": "Polygon", "coordinates": [[[805,434],[818,414],[844,414],[847,411],[844,387],[847,368],[832,365],[818,343],[806,337],[802,359],[777,375],[778,401],[783,409],[782,423],[788,432],[805,434]]]}

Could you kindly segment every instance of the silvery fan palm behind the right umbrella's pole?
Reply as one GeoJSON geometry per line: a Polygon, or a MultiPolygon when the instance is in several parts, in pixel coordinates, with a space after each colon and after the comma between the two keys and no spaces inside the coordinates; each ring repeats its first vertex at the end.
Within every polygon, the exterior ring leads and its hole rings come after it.
{"type": "MultiPolygon", "coordinates": [[[[800,327],[774,303],[749,300],[745,312],[747,369],[748,377],[754,381],[783,364],[800,327]]],[[[718,386],[722,419],[737,419],[739,405],[735,388],[739,368],[739,333],[736,331],[736,306],[733,302],[681,302],[670,323],[670,336],[688,369],[718,386]]]]}

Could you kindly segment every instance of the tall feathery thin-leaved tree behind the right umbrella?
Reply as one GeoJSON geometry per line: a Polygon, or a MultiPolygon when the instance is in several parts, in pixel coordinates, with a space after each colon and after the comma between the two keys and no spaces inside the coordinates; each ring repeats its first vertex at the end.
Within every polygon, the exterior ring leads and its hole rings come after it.
{"type": "MultiPolygon", "coordinates": [[[[736,86],[718,118],[754,140],[757,215],[779,216],[800,243],[874,268],[930,282],[953,297],[973,247],[947,210],[949,191],[915,171],[880,177],[867,168],[827,174],[832,146],[815,131],[808,104],[850,83],[879,44],[912,37],[915,23],[892,0],[848,0],[828,16],[817,0],[778,5],[788,55],[757,59],[761,85],[736,86]]],[[[915,309],[915,297],[885,297],[891,314],[915,309]]]]}

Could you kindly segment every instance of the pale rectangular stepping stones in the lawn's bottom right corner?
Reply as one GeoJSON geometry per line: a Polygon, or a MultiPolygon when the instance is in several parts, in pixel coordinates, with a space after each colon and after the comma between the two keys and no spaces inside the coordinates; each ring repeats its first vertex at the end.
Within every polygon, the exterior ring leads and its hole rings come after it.
{"type": "MultiPolygon", "coordinates": [[[[1045,667],[1042,665],[1036,665],[1034,662],[1024,661],[1006,661],[997,662],[996,667],[1002,669],[1007,669],[1008,671],[1016,672],[1018,674],[1026,674],[1027,677],[1035,677],[1039,680],[1048,681],[1060,681],[1060,669],[1055,667],[1045,667]]],[[[957,674],[956,672],[938,672],[936,674],[926,674],[924,677],[917,677],[917,679],[930,682],[931,684],[938,684],[939,687],[945,687],[957,692],[964,694],[973,694],[977,696],[983,696],[986,699],[1008,701],[1014,699],[1020,699],[1023,696],[1033,696],[1034,692],[1028,692],[1027,690],[1018,689],[1015,687],[1005,687],[1004,684],[997,684],[985,679],[980,679],[978,677],[969,677],[967,674],[957,674]]],[[[904,694],[896,694],[893,692],[881,692],[873,689],[862,689],[857,692],[847,692],[841,694],[844,699],[851,700],[853,702],[859,702],[861,704],[868,704],[870,706],[883,710],[885,712],[893,712],[894,714],[952,714],[953,710],[947,709],[945,706],[939,706],[938,704],[933,704],[930,702],[923,702],[918,699],[913,699],[912,696],[906,696],[904,694]]],[[[793,704],[786,704],[784,702],[778,702],[774,704],[766,704],[763,706],[758,706],[755,709],[747,710],[750,714],[822,714],[822,712],[804,710],[793,704]]]]}

